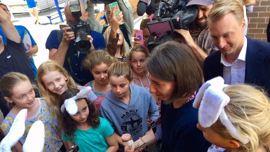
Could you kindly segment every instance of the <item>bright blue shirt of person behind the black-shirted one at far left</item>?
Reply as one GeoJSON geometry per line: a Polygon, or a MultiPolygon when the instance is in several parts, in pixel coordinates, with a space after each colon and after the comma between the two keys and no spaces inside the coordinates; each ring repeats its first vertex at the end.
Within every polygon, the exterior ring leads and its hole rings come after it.
{"type": "MultiPolygon", "coordinates": [[[[21,39],[23,38],[23,35],[24,35],[24,31],[27,31],[29,33],[29,36],[30,36],[30,39],[31,39],[31,42],[32,42],[32,46],[34,45],[37,45],[37,43],[35,42],[35,40],[33,39],[32,35],[30,34],[30,32],[26,29],[26,27],[22,26],[22,25],[14,25],[15,28],[17,29],[21,39]]],[[[4,44],[7,44],[7,37],[6,35],[4,34],[1,26],[0,26],[0,35],[3,37],[3,43],[4,44]]],[[[25,50],[27,51],[27,50],[25,50]]],[[[34,76],[36,77],[37,76],[37,67],[35,66],[35,62],[34,62],[34,59],[31,58],[30,59],[30,64],[31,64],[31,67],[32,67],[32,71],[34,73],[34,76]]]]}

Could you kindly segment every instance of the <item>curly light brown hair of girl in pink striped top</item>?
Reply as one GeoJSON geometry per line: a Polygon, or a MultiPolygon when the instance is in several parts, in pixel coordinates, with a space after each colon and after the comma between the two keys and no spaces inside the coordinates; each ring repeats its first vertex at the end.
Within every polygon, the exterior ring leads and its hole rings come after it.
{"type": "Polygon", "coordinates": [[[117,62],[117,58],[111,56],[108,52],[104,50],[93,51],[88,54],[83,62],[84,68],[91,70],[102,63],[107,66],[111,66],[112,63],[117,62]]]}

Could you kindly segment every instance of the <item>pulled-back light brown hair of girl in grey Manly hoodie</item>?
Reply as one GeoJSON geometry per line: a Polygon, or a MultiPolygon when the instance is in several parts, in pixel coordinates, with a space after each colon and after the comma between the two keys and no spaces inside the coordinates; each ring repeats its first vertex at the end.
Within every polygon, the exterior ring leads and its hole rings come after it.
{"type": "Polygon", "coordinates": [[[108,69],[108,78],[110,80],[110,76],[123,76],[129,82],[133,80],[133,75],[130,66],[127,62],[115,62],[108,69]]]}

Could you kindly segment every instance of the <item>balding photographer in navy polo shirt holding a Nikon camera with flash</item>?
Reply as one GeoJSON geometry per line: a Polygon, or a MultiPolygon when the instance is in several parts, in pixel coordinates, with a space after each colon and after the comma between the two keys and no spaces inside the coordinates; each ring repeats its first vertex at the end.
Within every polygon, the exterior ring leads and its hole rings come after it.
{"type": "MultiPolygon", "coordinates": [[[[70,12],[68,5],[69,1],[70,0],[66,1],[64,13],[67,24],[73,24],[76,21],[76,18],[74,18],[73,14],[70,12]]],[[[86,21],[88,13],[86,13],[84,3],[82,0],[78,1],[81,9],[80,19],[82,21],[86,21]]],[[[84,86],[87,82],[94,79],[87,69],[81,69],[81,63],[86,57],[87,51],[82,52],[77,49],[75,46],[76,33],[74,33],[76,31],[69,30],[70,26],[66,26],[61,30],[60,34],[57,32],[57,30],[51,31],[46,41],[46,49],[49,49],[49,59],[55,60],[63,65],[63,67],[71,74],[75,82],[79,83],[81,86],[84,86]],[[62,36],[63,38],[61,38],[62,36]]],[[[87,37],[92,44],[89,52],[94,50],[94,48],[105,49],[105,40],[100,33],[91,30],[91,36],[87,35],[87,37]]]]}

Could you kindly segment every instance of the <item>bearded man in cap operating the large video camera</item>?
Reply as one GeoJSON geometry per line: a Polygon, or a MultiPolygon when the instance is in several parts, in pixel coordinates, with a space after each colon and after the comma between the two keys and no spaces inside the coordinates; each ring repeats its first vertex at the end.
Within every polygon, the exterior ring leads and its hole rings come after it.
{"type": "Polygon", "coordinates": [[[190,31],[184,29],[175,29],[175,32],[183,37],[179,40],[190,47],[197,58],[200,66],[203,68],[205,58],[218,49],[212,42],[206,19],[215,0],[191,0],[186,6],[197,5],[199,8],[198,16],[190,26],[190,31]]]}

